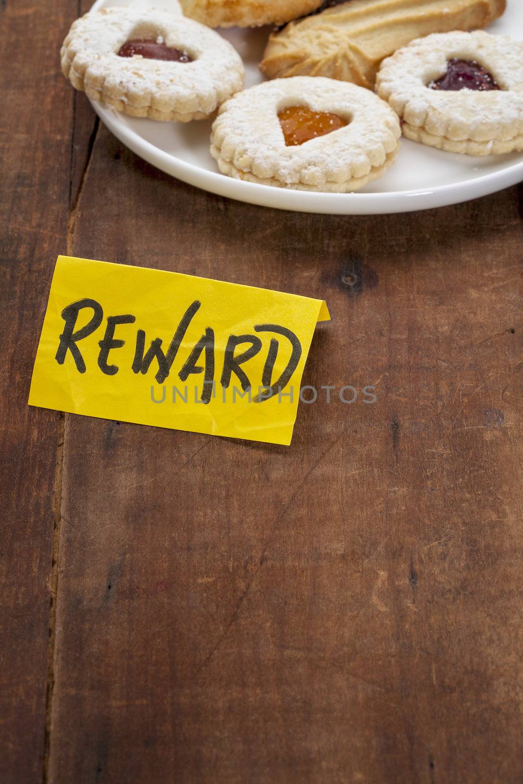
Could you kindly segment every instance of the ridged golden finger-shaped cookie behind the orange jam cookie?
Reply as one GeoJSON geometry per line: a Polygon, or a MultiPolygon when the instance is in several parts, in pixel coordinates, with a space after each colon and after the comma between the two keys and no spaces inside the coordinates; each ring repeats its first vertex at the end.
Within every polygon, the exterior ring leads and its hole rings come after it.
{"type": "Polygon", "coordinates": [[[291,22],[269,38],[268,78],[329,76],[372,89],[384,57],[414,38],[486,27],[505,0],[351,0],[291,22]]]}

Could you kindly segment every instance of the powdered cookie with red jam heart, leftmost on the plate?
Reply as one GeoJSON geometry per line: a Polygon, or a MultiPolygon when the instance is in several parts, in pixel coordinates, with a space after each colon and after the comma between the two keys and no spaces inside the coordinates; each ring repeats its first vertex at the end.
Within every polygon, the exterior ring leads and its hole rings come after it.
{"type": "Polygon", "coordinates": [[[62,71],[93,100],[133,117],[201,120],[242,89],[242,59],[180,11],[110,8],[76,20],[62,71]]]}

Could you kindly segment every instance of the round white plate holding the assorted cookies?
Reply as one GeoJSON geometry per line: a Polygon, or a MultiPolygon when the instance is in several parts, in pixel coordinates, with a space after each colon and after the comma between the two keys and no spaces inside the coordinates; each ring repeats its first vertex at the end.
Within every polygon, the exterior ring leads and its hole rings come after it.
{"type": "MultiPolygon", "coordinates": [[[[146,4],[169,8],[169,0],[96,0],[93,9],[146,4]]],[[[503,18],[489,30],[523,38],[523,2],[509,0],[503,18]]],[[[267,28],[221,32],[245,62],[246,86],[261,82],[258,63],[267,41],[267,28]]],[[[96,101],[92,103],[114,136],[158,169],[205,191],[264,207],[337,215],[411,212],[468,201],[523,180],[522,154],[470,158],[403,140],[397,161],[389,171],[355,194],[312,193],[257,185],[220,174],[209,152],[210,121],[187,125],[154,122],[127,117],[96,101]]]]}

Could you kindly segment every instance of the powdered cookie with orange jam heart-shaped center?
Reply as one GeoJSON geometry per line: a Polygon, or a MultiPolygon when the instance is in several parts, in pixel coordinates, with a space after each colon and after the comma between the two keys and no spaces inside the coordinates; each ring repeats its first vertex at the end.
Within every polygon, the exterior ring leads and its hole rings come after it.
{"type": "Polygon", "coordinates": [[[223,103],[211,154],[240,180],[301,191],[357,191],[398,153],[397,114],[374,93],[333,79],[263,82],[223,103]]]}

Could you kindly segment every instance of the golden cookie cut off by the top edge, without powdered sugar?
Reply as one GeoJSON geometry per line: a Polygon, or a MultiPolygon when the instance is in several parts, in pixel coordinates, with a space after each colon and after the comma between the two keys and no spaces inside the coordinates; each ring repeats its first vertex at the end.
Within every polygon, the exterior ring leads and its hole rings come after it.
{"type": "Polygon", "coordinates": [[[319,8],[323,0],[180,0],[183,13],[209,27],[285,24],[319,8]]]}

